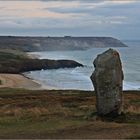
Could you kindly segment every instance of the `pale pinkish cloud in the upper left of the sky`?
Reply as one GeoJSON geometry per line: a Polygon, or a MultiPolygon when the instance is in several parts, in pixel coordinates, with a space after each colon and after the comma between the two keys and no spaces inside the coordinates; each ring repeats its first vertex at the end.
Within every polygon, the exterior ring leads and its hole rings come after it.
{"type": "MultiPolygon", "coordinates": [[[[42,10],[46,6],[51,5],[54,7],[54,2],[43,3],[40,1],[0,1],[0,5],[5,7],[0,9],[0,17],[16,17],[16,18],[66,18],[69,14],[57,13],[49,10],[42,10]]],[[[65,5],[65,4],[64,4],[65,5]]],[[[60,2],[57,2],[55,6],[60,6],[60,2]]]]}

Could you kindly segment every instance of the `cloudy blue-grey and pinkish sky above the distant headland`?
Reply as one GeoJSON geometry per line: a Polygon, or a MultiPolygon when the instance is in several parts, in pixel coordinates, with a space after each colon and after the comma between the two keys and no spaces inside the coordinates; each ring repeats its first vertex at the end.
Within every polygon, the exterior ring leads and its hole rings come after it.
{"type": "Polygon", "coordinates": [[[0,0],[0,35],[140,39],[139,0],[0,0]]]}

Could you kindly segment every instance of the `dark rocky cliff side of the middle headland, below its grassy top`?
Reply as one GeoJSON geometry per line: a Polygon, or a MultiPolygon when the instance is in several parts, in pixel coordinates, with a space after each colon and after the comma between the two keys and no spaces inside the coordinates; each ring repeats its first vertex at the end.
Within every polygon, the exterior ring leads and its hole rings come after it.
{"type": "Polygon", "coordinates": [[[41,69],[75,68],[82,64],[73,60],[26,59],[0,63],[0,73],[22,73],[41,69]]]}

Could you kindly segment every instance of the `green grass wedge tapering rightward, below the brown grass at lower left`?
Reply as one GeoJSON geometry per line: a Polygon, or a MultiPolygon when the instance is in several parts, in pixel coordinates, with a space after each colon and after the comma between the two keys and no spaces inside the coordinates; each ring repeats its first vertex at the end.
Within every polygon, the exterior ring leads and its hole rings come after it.
{"type": "Polygon", "coordinates": [[[64,129],[70,126],[85,124],[86,121],[76,119],[15,119],[14,117],[7,117],[0,119],[0,132],[5,136],[19,135],[19,134],[32,134],[56,131],[57,129],[64,129]],[[6,131],[5,131],[6,130],[6,131]]]}

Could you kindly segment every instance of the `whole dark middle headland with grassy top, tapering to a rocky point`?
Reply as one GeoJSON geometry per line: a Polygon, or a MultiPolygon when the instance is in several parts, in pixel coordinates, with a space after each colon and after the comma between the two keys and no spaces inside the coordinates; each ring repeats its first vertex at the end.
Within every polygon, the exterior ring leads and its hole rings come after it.
{"type": "Polygon", "coordinates": [[[41,69],[74,68],[83,66],[73,60],[30,59],[12,53],[0,53],[0,73],[21,73],[41,69]]]}

